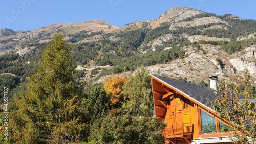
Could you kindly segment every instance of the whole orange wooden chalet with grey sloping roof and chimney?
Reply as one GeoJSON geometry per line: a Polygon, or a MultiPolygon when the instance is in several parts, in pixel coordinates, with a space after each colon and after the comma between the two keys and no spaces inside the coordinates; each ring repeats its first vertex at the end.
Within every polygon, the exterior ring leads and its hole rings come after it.
{"type": "MultiPolygon", "coordinates": [[[[215,78],[210,82],[214,89],[215,78]]],[[[165,143],[231,143],[228,122],[207,102],[216,99],[212,88],[157,75],[151,82],[155,116],[167,123],[165,143]]]]}

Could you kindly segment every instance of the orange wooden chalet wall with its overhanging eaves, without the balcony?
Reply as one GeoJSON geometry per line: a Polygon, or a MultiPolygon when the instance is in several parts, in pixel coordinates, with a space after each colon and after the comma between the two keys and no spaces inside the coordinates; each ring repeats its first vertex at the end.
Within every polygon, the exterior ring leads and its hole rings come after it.
{"type": "MultiPolygon", "coordinates": [[[[223,124],[228,124],[218,115],[214,114],[215,112],[205,107],[203,104],[198,102],[193,102],[194,99],[191,99],[190,96],[182,94],[175,87],[166,85],[159,81],[158,79],[152,78],[152,87],[153,87],[153,99],[156,117],[159,121],[164,121],[168,125],[189,123],[193,124],[193,138],[194,143],[201,143],[202,140],[205,142],[205,139],[212,139],[218,137],[232,136],[232,132],[220,132],[219,130],[219,121],[223,124]],[[188,107],[184,108],[184,102],[188,103],[188,107]],[[201,113],[200,111],[208,113],[209,115],[215,118],[217,133],[207,133],[202,134],[201,127],[201,113]]],[[[197,95],[194,95],[196,97],[197,95]]],[[[216,142],[207,141],[208,143],[216,142]]],[[[179,142],[183,142],[178,140],[179,142]]],[[[229,142],[229,141],[219,141],[219,142],[229,142]]]]}

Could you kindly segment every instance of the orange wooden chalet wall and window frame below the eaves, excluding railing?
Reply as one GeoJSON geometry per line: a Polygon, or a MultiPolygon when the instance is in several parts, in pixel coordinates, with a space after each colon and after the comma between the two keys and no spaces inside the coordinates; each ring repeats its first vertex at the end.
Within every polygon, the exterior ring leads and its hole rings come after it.
{"type": "Polygon", "coordinates": [[[167,123],[167,125],[176,125],[182,123],[193,124],[193,139],[231,135],[230,132],[218,132],[219,127],[217,123],[219,122],[219,117],[210,113],[210,115],[216,118],[217,133],[202,134],[200,111],[203,108],[189,100],[184,100],[186,99],[179,94],[175,94],[173,97],[169,98],[169,102],[167,103],[167,111],[164,118],[164,122],[167,123]],[[185,102],[188,103],[187,108],[184,108],[185,102]]]}

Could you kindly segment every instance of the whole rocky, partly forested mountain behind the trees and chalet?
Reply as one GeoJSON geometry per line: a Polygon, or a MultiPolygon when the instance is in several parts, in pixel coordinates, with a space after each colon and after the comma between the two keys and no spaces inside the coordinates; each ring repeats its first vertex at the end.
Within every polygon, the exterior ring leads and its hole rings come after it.
{"type": "MultiPolygon", "coordinates": [[[[110,74],[133,73],[144,65],[150,73],[196,82],[206,82],[216,72],[231,82],[248,69],[256,85],[256,21],[188,7],[174,7],[159,18],[135,20],[124,27],[95,19],[31,31],[3,29],[0,55],[16,53],[16,63],[36,65],[42,49],[59,32],[73,44],[77,70],[86,69],[80,76],[90,83],[102,82],[110,74]]],[[[15,63],[10,65],[0,73],[15,74],[10,70],[15,63]]]]}

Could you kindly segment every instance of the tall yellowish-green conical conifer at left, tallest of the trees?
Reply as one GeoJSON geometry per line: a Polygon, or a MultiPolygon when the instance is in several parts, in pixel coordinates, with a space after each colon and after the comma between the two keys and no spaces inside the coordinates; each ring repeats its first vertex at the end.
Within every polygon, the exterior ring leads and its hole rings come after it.
{"type": "Polygon", "coordinates": [[[86,125],[74,86],[71,50],[64,36],[56,35],[29,77],[27,92],[15,98],[10,114],[15,143],[69,143],[81,138],[86,125]]]}

